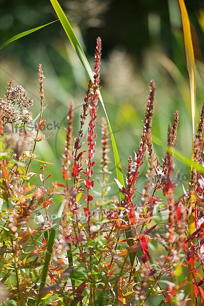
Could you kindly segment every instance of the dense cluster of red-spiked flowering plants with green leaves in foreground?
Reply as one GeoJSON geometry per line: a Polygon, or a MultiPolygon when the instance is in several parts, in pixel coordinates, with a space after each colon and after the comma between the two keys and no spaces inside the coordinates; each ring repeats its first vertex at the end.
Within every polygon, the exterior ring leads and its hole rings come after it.
{"type": "MultiPolygon", "coordinates": [[[[26,130],[25,124],[31,122],[32,114],[27,109],[32,101],[23,88],[13,88],[10,81],[6,94],[9,107],[5,108],[6,100],[0,100],[1,304],[148,305],[154,297],[158,305],[183,306],[192,302],[189,300],[192,288],[195,303],[204,304],[204,179],[198,168],[192,167],[188,190],[175,198],[173,148],[179,111],[175,111],[173,124],[168,128],[166,155],[159,159],[151,140],[153,80],[140,144],[134,157],[127,161],[125,186],[115,180],[121,199],[109,196],[110,148],[104,118],[101,119],[101,190],[94,188],[100,57],[101,40],[97,38],[94,82],[88,84],[78,135],[72,135],[72,101],[68,108],[62,155],[64,184],[50,183],[46,162],[40,165],[40,173],[30,171],[32,161],[37,160],[36,144],[45,138],[40,135],[40,126],[45,121],[41,65],[41,111],[36,135],[26,130]],[[10,110],[16,115],[14,121],[9,117],[10,110]],[[5,124],[17,120],[22,121],[23,132],[4,133],[5,124]],[[83,143],[85,123],[88,137],[83,143]],[[146,156],[148,170],[144,188],[139,191],[137,180],[146,156]],[[39,180],[36,179],[36,185],[30,185],[34,175],[39,180]],[[50,205],[58,209],[55,220],[49,217],[50,205]],[[36,216],[40,223],[33,228],[36,216]]],[[[194,165],[203,161],[203,126],[204,106],[193,145],[194,165]]]]}

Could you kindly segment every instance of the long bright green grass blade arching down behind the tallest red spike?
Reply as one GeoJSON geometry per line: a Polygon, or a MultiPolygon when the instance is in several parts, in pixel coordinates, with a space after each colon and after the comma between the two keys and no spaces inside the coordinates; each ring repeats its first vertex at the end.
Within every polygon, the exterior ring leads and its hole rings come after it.
{"type": "MultiPolygon", "coordinates": [[[[69,38],[75,52],[77,53],[82,65],[84,66],[85,70],[87,71],[91,81],[94,82],[92,69],[89,65],[89,62],[86,58],[86,55],[84,54],[84,51],[82,49],[82,46],[80,45],[79,40],[77,39],[77,37],[74,34],[74,31],[71,27],[70,22],[68,21],[65,13],[63,12],[61,6],[58,3],[58,1],[57,0],[50,0],[50,2],[52,3],[53,8],[55,9],[55,12],[56,12],[61,24],[62,24],[62,27],[63,27],[67,37],[69,38]]],[[[104,109],[106,119],[107,119],[107,122],[108,122],[108,126],[109,126],[109,132],[110,132],[111,142],[112,142],[112,146],[113,146],[113,154],[114,154],[114,160],[115,160],[117,179],[120,182],[120,184],[124,186],[122,168],[120,166],[119,154],[118,154],[116,142],[115,142],[115,139],[114,139],[114,135],[113,135],[113,132],[112,132],[112,129],[111,129],[111,124],[110,124],[110,121],[109,121],[109,118],[108,118],[108,114],[106,112],[106,108],[105,108],[105,105],[104,105],[103,98],[102,98],[99,91],[98,91],[98,94],[99,94],[99,99],[100,99],[101,105],[104,109]]],[[[122,200],[123,198],[124,198],[124,195],[120,191],[120,200],[122,200]]]]}

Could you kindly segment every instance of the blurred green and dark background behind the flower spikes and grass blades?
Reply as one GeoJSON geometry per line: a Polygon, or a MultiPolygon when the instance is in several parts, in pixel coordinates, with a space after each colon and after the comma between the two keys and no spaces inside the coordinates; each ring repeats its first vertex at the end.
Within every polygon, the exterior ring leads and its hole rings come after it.
{"type": "MultiPolygon", "coordinates": [[[[152,133],[164,144],[167,127],[172,123],[173,113],[180,111],[180,126],[177,135],[177,149],[190,158],[192,127],[190,116],[190,94],[183,41],[180,8],[177,0],[68,0],[59,2],[68,16],[85,53],[93,66],[96,37],[103,42],[101,65],[101,93],[119,150],[122,166],[137,150],[144,118],[149,82],[156,82],[155,117],[152,133]]],[[[203,29],[204,2],[185,1],[192,25],[192,36],[196,58],[197,75],[197,121],[204,97],[203,80],[203,29]]],[[[0,40],[7,39],[25,30],[38,27],[57,19],[48,0],[4,1],[0,0],[0,40]]],[[[12,78],[21,84],[34,99],[33,118],[40,111],[37,65],[42,63],[45,79],[45,109],[43,118],[47,123],[59,123],[56,130],[45,130],[48,137],[37,145],[36,154],[48,165],[53,181],[61,179],[61,153],[64,145],[64,126],[70,99],[74,101],[74,134],[79,130],[81,105],[87,89],[88,77],[75,55],[59,22],[37,31],[6,46],[0,51],[0,93],[4,97],[7,82],[12,78]]],[[[104,116],[99,105],[97,134],[100,134],[100,117],[104,116]]],[[[86,129],[85,129],[86,131],[86,129]]],[[[84,141],[86,141],[86,133],[84,141]]],[[[99,145],[96,150],[99,164],[99,145]]],[[[83,149],[86,149],[84,145],[83,149]]],[[[165,149],[155,144],[157,155],[162,158],[165,149]]],[[[116,176],[113,156],[110,153],[113,170],[110,182],[116,176]]],[[[31,170],[39,173],[40,163],[34,162],[31,170]]],[[[146,164],[138,181],[141,191],[145,179],[146,164]]],[[[175,160],[175,173],[188,175],[189,169],[175,160]]],[[[124,170],[125,173],[125,170],[124,170]]],[[[186,179],[186,176],[185,176],[186,179]]],[[[37,185],[40,180],[32,179],[37,185]]],[[[47,184],[50,184],[51,179],[47,184]]],[[[33,183],[32,182],[32,183],[33,183]]],[[[178,195],[182,183],[179,182],[178,195]]],[[[112,194],[117,187],[112,186],[112,194]]]]}

